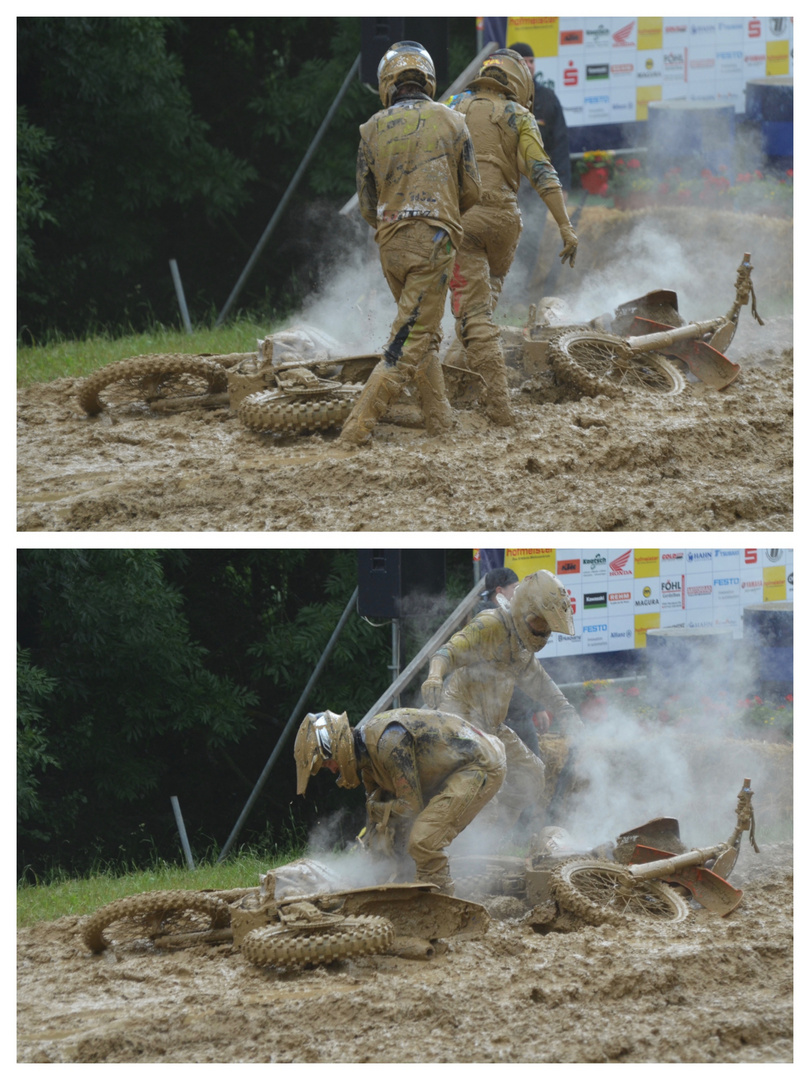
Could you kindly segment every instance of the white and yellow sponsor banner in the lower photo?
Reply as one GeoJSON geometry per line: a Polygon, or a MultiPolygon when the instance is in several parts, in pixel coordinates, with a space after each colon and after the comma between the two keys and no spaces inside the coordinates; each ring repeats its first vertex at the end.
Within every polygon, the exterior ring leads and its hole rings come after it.
{"type": "Polygon", "coordinates": [[[550,570],[568,592],[575,634],[553,634],[544,657],[643,649],[647,631],[728,626],[742,639],[751,604],[793,600],[791,548],[480,548],[481,577],[550,570]]]}

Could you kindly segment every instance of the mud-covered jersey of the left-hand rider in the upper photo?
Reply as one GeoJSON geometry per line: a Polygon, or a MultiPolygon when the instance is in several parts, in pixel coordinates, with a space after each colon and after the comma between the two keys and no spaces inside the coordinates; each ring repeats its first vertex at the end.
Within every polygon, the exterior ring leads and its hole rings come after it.
{"type": "Polygon", "coordinates": [[[382,244],[413,218],[429,218],[461,243],[461,215],[481,195],[463,117],[428,97],[406,98],[361,125],[360,212],[382,244]]]}

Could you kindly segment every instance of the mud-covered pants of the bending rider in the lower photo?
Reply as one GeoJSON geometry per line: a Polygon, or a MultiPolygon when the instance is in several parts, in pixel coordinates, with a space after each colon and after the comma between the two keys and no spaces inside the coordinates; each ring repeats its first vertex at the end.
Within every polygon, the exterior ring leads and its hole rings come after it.
{"type": "Polygon", "coordinates": [[[446,848],[495,797],[505,771],[502,764],[488,769],[482,766],[459,769],[450,773],[441,791],[417,814],[407,843],[408,854],[416,863],[417,881],[451,891],[446,848]]]}

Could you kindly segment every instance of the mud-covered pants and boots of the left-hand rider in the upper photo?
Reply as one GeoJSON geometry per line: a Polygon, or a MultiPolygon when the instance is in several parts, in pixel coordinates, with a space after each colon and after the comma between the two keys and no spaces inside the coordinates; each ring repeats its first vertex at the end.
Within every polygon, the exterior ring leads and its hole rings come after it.
{"type": "Polygon", "coordinates": [[[380,247],[382,272],[397,303],[396,318],[383,359],[343,424],[341,442],[367,443],[388,406],[410,381],[416,383],[428,434],[451,428],[438,345],[455,258],[447,233],[426,218],[402,226],[380,247]]]}

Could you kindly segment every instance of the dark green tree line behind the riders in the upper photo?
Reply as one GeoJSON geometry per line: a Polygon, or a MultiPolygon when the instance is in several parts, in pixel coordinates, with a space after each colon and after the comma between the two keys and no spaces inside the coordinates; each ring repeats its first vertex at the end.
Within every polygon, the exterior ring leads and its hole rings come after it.
{"type": "MultiPolygon", "coordinates": [[[[453,77],[475,31],[449,24],[453,77]]],[[[24,339],[178,323],[173,258],[192,318],[220,311],[360,48],[355,17],[18,18],[24,339]]],[[[237,310],[288,310],[356,238],[337,211],[378,107],[352,83],[237,310]]]]}

